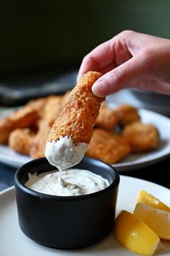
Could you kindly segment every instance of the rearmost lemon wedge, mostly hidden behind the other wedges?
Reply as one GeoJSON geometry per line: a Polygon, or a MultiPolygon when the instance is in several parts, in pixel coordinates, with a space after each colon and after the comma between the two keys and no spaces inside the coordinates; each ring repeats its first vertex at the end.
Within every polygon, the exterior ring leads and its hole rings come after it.
{"type": "Polygon", "coordinates": [[[165,205],[163,202],[161,202],[158,198],[154,197],[153,195],[149,194],[145,190],[141,190],[137,197],[137,202],[143,202],[147,205],[150,205],[154,208],[157,208],[159,210],[166,210],[170,213],[170,208],[165,205]]]}

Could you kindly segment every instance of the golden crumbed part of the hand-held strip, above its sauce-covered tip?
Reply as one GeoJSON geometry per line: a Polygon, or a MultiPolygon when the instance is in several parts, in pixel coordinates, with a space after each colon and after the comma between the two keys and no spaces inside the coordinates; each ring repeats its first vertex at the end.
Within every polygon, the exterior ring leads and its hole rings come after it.
{"type": "Polygon", "coordinates": [[[104,98],[98,98],[92,93],[91,87],[101,75],[90,71],[81,77],[53,124],[48,141],[57,141],[61,136],[67,136],[71,137],[75,145],[90,142],[100,105],[104,101],[104,98]]]}

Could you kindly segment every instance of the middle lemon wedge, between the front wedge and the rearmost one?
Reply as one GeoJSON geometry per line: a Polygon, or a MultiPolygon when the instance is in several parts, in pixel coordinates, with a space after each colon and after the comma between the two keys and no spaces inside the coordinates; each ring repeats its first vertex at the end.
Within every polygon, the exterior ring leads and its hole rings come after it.
{"type": "Polygon", "coordinates": [[[160,238],[170,239],[170,213],[138,202],[134,214],[145,222],[160,238]]]}

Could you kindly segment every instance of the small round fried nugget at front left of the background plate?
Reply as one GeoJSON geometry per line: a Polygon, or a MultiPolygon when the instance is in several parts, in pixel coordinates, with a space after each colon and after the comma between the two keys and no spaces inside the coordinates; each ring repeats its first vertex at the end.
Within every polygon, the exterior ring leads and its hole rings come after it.
{"type": "Polygon", "coordinates": [[[18,153],[29,155],[35,133],[30,129],[15,129],[9,135],[9,147],[18,153]]]}

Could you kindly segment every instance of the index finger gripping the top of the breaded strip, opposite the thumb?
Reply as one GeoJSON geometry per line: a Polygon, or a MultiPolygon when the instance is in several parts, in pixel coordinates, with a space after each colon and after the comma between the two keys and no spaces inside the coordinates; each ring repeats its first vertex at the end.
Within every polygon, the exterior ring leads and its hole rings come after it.
{"type": "Polygon", "coordinates": [[[99,71],[104,67],[107,67],[115,59],[115,53],[111,40],[107,40],[101,45],[97,46],[89,54],[87,54],[79,69],[77,80],[79,81],[83,74],[92,71],[99,71]]]}

